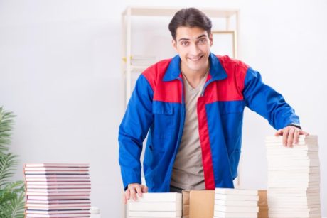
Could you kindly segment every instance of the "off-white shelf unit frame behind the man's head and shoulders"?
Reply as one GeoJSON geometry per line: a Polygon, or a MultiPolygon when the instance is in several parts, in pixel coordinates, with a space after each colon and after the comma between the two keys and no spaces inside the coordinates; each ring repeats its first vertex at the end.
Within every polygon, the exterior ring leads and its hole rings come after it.
{"type": "MultiPolygon", "coordinates": [[[[154,17],[171,17],[181,8],[173,7],[141,7],[129,6],[122,13],[122,55],[125,61],[122,61],[122,73],[124,75],[124,92],[125,92],[125,107],[132,94],[132,72],[143,71],[146,66],[134,66],[131,63],[132,57],[132,18],[136,16],[144,16],[149,18],[154,17]]],[[[238,9],[200,9],[209,18],[224,18],[225,29],[212,30],[215,33],[233,33],[233,58],[237,58],[238,50],[238,32],[239,32],[239,10],[238,9]],[[231,19],[234,18],[235,25],[231,25],[231,19]]],[[[167,23],[168,25],[168,23],[167,23]]],[[[168,30],[167,30],[168,31],[168,30]]],[[[167,45],[170,42],[167,42],[167,45]]],[[[169,45],[170,46],[170,45],[169,45]]]]}

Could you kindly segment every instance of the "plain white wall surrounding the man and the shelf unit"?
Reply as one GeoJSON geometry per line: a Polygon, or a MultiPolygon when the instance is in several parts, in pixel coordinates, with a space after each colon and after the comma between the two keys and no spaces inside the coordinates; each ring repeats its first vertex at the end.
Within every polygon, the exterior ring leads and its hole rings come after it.
{"type": "MultiPolygon", "coordinates": [[[[326,216],[327,1],[323,0],[114,4],[0,0],[0,105],[17,115],[12,151],[21,163],[16,179],[23,179],[23,163],[90,163],[92,205],[100,207],[103,217],[120,217],[117,131],[124,110],[120,14],[136,4],[241,10],[240,58],[284,94],[306,131],[319,136],[326,216]]],[[[246,111],[240,169],[244,187],[266,187],[263,142],[272,134],[267,121],[246,111]]]]}

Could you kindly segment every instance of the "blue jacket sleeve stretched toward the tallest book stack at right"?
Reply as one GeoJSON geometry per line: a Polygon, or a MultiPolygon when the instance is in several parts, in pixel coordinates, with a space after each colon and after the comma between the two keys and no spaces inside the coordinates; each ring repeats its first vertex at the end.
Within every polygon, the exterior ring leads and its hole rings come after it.
{"type": "Polygon", "coordinates": [[[245,106],[267,119],[274,129],[282,129],[292,123],[300,124],[299,116],[285,102],[282,94],[265,85],[259,72],[251,67],[245,75],[243,97],[245,106]]]}

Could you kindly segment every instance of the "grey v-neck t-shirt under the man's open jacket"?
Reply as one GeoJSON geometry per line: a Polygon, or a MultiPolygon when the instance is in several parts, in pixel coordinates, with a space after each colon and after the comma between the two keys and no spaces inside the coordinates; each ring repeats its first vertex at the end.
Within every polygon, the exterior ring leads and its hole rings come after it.
{"type": "Polygon", "coordinates": [[[202,151],[198,132],[197,103],[207,77],[208,72],[202,78],[198,87],[193,88],[183,76],[186,118],[181,145],[171,173],[171,185],[181,189],[205,189],[202,151]]]}

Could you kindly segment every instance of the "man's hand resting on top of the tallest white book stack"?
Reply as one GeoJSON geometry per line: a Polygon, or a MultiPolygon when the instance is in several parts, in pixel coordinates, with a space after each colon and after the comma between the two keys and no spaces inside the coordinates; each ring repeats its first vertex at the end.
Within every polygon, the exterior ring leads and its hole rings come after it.
{"type": "Polygon", "coordinates": [[[283,136],[283,145],[290,148],[293,144],[299,143],[300,135],[309,136],[309,133],[295,126],[286,126],[275,133],[275,136],[283,136]]]}

